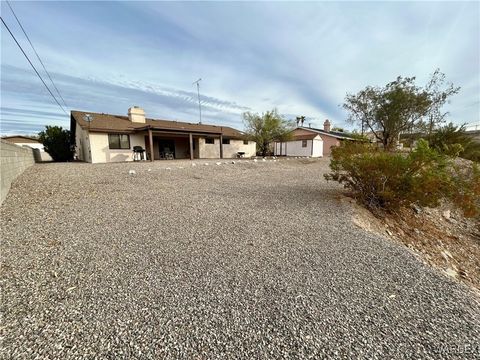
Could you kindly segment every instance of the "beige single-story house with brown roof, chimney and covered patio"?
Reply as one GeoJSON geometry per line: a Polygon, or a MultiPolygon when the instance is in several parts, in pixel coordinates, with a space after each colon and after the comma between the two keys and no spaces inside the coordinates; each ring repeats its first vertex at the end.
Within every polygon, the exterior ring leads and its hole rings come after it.
{"type": "Polygon", "coordinates": [[[256,151],[238,130],[148,119],[136,106],[128,116],[72,111],[70,131],[77,159],[91,163],[132,161],[134,147],[145,149],[152,161],[250,157],[256,151]]]}

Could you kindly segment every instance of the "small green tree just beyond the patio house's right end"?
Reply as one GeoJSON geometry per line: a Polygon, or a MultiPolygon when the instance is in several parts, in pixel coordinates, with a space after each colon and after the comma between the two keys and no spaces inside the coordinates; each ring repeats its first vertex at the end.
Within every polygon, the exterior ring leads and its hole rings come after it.
{"type": "Polygon", "coordinates": [[[267,155],[270,144],[275,140],[285,141],[294,126],[291,121],[285,120],[276,109],[261,115],[246,112],[243,120],[247,136],[257,143],[257,151],[262,156],[267,155]]]}

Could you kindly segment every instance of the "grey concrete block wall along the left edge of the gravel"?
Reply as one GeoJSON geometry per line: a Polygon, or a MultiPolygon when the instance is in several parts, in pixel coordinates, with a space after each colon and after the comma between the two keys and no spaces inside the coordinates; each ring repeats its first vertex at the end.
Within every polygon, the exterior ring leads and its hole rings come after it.
{"type": "Polygon", "coordinates": [[[12,182],[34,163],[33,149],[0,140],[0,204],[12,182]]]}

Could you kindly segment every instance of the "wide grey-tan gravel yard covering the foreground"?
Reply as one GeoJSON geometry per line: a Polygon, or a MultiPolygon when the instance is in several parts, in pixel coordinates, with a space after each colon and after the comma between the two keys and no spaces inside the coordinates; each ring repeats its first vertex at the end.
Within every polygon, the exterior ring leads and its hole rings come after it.
{"type": "Polygon", "coordinates": [[[1,207],[0,356],[480,356],[478,297],[356,227],[328,159],[217,161],[19,177],[1,207]]]}

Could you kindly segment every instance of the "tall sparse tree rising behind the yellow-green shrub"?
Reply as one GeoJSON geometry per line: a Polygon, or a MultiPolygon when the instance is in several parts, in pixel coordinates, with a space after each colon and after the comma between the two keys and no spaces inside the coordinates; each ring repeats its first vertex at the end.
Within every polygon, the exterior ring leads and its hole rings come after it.
{"type": "Polygon", "coordinates": [[[343,108],[351,123],[371,131],[386,150],[392,150],[401,133],[433,129],[444,122],[447,113],[442,113],[442,106],[459,90],[436,70],[424,87],[415,84],[415,77],[399,76],[385,87],[367,86],[347,94],[343,108]]]}

